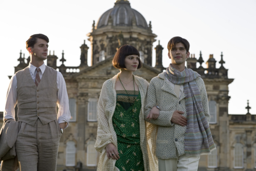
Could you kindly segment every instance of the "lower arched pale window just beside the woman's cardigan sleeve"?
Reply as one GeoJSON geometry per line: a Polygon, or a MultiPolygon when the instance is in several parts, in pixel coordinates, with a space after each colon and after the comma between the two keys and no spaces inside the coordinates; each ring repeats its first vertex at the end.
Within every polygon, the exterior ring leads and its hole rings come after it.
{"type": "Polygon", "coordinates": [[[95,141],[89,141],[87,143],[87,165],[97,166],[97,155],[98,152],[94,148],[95,141]]]}

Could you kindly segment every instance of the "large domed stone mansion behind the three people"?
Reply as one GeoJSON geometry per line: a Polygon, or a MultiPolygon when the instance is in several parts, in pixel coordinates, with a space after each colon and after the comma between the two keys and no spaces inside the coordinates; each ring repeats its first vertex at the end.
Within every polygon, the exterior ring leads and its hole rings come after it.
{"type": "MultiPolygon", "coordinates": [[[[147,25],[144,17],[132,9],[129,1],[118,0],[114,8],[106,11],[99,18],[97,25],[88,33],[91,42],[92,63],[88,66],[88,50],[85,40],[81,45],[81,63],[77,67],[67,67],[64,52],[60,66],[56,65],[58,57],[48,55],[47,65],[57,69],[67,84],[70,100],[71,121],[60,138],[57,170],[96,170],[99,153],[94,149],[97,136],[97,100],[102,84],[119,71],[112,66],[112,58],[117,49],[124,44],[135,46],[143,58],[143,67],[134,74],[148,82],[163,71],[162,50],[159,44],[156,50],[156,66],[152,67],[153,42],[156,35],[152,32],[151,22],[147,25]]],[[[20,62],[15,72],[28,66],[30,59],[18,58],[20,62]]],[[[255,117],[246,115],[228,115],[228,85],[233,79],[228,78],[221,54],[220,68],[216,68],[213,55],[203,68],[202,54],[199,58],[191,55],[187,67],[197,71],[205,82],[211,114],[210,129],[217,146],[211,156],[202,156],[199,170],[254,170],[256,161],[255,117]],[[197,63],[200,64],[197,67],[197,63]]],[[[17,109],[16,109],[17,110],[17,109]]],[[[3,113],[0,113],[0,119],[3,113]]],[[[0,120],[0,126],[3,121],[0,120]]]]}

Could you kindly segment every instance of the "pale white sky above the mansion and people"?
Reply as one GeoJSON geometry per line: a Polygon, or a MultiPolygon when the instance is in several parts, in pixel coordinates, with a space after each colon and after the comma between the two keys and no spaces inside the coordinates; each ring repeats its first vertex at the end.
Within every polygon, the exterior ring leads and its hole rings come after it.
{"type": "MultiPolygon", "coordinates": [[[[26,40],[32,34],[49,37],[49,50],[61,58],[65,52],[66,66],[79,66],[80,46],[91,32],[93,20],[113,8],[113,0],[94,1],[0,1],[0,111],[4,111],[9,75],[22,50],[25,57],[26,40]]],[[[255,63],[256,63],[256,1],[255,0],[130,0],[131,7],[139,11],[157,35],[154,48],[160,40],[163,46],[163,65],[167,67],[167,42],[174,36],[186,38],[190,54],[199,57],[202,51],[206,62],[209,54],[219,62],[221,52],[226,62],[229,85],[229,114],[246,114],[247,99],[251,114],[256,114],[255,63]]],[[[90,57],[90,50],[88,56],[90,57]]],[[[155,50],[153,50],[155,60],[155,50]]],[[[61,62],[57,62],[57,66],[61,62]]],[[[220,67],[217,62],[217,68],[220,67]]],[[[90,61],[89,61],[90,63],[90,61]]],[[[153,62],[155,65],[155,61],[153,62]]],[[[205,67],[205,63],[203,65],[205,67]]]]}

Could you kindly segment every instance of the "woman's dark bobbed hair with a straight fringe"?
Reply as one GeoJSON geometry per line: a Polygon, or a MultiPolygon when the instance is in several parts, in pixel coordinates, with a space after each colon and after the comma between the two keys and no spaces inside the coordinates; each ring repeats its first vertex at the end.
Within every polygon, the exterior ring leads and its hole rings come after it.
{"type": "MultiPolygon", "coordinates": [[[[113,66],[117,69],[126,68],[125,65],[124,65],[124,59],[125,59],[126,56],[129,56],[129,55],[138,55],[138,56],[140,56],[140,53],[135,47],[133,47],[131,45],[121,46],[118,49],[118,51],[116,52],[116,54],[115,54],[115,56],[112,60],[113,66]]],[[[139,65],[138,65],[137,69],[140,69],[141,67],[142,67],[142,62],[139,59],[139,65]]]]}

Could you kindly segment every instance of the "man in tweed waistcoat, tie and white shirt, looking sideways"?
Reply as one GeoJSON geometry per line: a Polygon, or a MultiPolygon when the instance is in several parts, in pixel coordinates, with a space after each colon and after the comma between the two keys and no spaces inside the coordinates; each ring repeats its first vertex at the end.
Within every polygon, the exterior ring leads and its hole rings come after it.
{"type": "Polygon", "coordinates": [[[15,119],[14,108],[18,106],[15,148],[20,171],[56,170],[59,139],[69,125],[65,80],[44,63],[48,42],[44,34],[30,36],[26,41],[29,66],[12,76],[7,92],[5,121],[15,119]]]}

